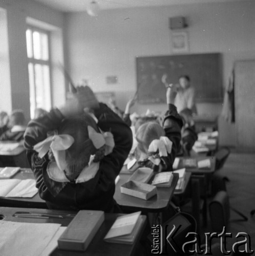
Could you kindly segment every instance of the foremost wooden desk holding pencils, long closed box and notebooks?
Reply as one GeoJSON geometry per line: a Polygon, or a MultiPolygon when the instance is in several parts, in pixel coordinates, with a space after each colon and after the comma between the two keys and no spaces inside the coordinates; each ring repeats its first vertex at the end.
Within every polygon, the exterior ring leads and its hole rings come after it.
{"type": "MultiPolygon", "coordinates": [[[[63,210],[47,210],[47,209],[33,209],[33,208],[9,208],[9,207],[0,207],[0,218],[5,221],[14,221],[14,222],[28,222],[28,223],[59,223],[62,226],[67,226],[73,217],[65,216],[66,214],[74,215],[75,212],[73,211],[63,211],[63,210]],[[64,218],[51,218],[49,219],[34,219],[34,218],[20,218],[20,217],[13,217],[13,214],[17,211],[28,211],[28,212],[40,212],[40,213],[48,213],[48,214],[59,214],[62,215],[64,218]]],[[[137,236],[135,242],[131,245],[129,244],[117,244],[117,243],[107,243],[103,241],[106,233],[112,226],[113,222],[117,217],[120,215],[118,214],[105,214],[105,221],[101,225],[100,229],[96,233],[96,236],[90,242],[87,250],[85,252],[77,252],[77,251],[66,251],[55,249],[50,255],[84,255],[84,256],[132,256],[136,255],[135,250],[137,248],[138,242],[141,239],[143,230],[146,225],[146,216],[142,216],[143,223],[140,229],[140,232],[137,236]]],[[[29,230],[28,230],[29,232],[29,230]]]]}

